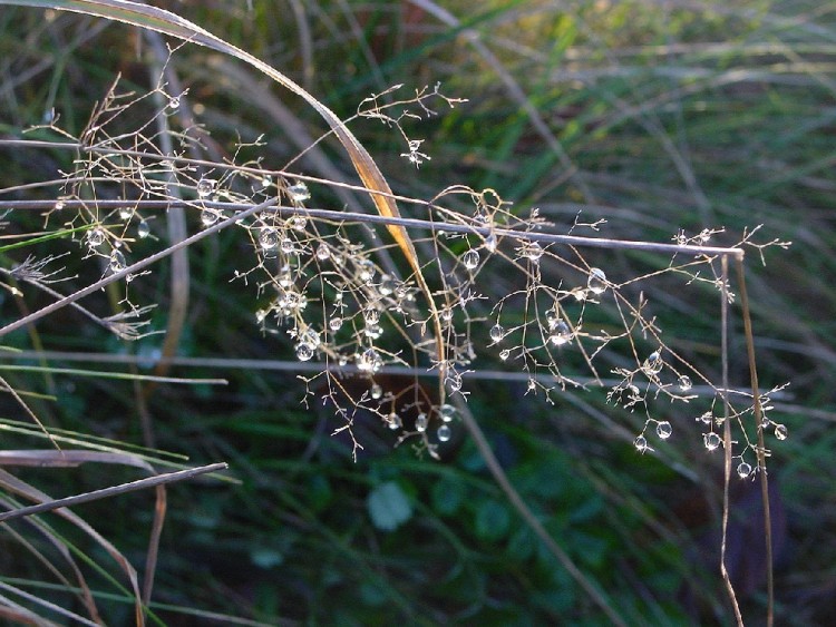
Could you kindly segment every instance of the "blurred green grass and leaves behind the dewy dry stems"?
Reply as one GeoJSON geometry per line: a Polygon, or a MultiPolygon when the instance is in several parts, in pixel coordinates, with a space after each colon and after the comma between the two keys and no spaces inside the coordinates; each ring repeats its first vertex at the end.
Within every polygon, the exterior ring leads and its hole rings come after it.
{"type": "MultiPolygon", "coordinates": [[[[603,236],[621,239],[670,242],[679,229],[708,227],[725,228],[712,244],[733,245],[746,227],[762,224],[761,241],[791,241],[787,251],[767,248],[766,265],[754,251],[747,259],[761,386],[790,382],[774,398],[790,438],[774,442],[769,460],[777,620],[828,624],[836,614],[836,6],[159,4],[270,62],[343,118],[396,84],[411,92],[440,82],[446,96],[466,98],[409,126],[431,157],[419,170],[399,157],[405,147],[391,128],[376,120],[351,125],[397,193],[431,198],[454,184],[492,187],[521,215],[538,207],[558,233],[582,212],[585,222],[606,221],[603,236]]],[[[133,28],[3,7],[0,134],[18,137],[52,108],[65,128],[79,134],[117,74],[125,90],[154,87],[149,58],[133,28]]],[[[217,53],[184,46],[171,66],[188,89],[196,121],[211,134],[207,146],[221,156],[231,156],[235,141],[263,135],[259,156],[286,163],[301,147],[284,114],[312,138],[324,130],[299,99],[217,53]]],[[[347,160],[333,146],[324,150],[348,179],[347,160]]],[[[3,147],[0,185],[54,179],[70,160],[57,151],[3,147]]],[[[300,163],[300,169],[313,168],[300,163]]],[[[18,228],[37,229],[39,219],[18,228]]],[[[162,224],[155,228],[162,236],[162,224]]],[[[226,235],[189,251],[192,303],[181,353],[290,359],[289,345],[257,332],[252,291],[230,282],[233,268],[245,267],[240,237],[226,235]]],[[[621,280],[670,261],[607,251],[589,259],[621,280]]],[[[167,272],[161,266],[158,281],[137,287],[161,303],[154,314],[161,329],[167,272]]],[[[503,277],[494,280],[500,284],[503,277]]],[[[715,295],[682,290],[681,281],[645,290],[665,336],[680,340],[716,374],[715,295]]],[[[3,321],[19,315],[4,295],[3,321]]],[[[745,388],[737,306],[732,315],[732,383],[745,388]]],[[[126,347],[90,326],[59,314],[39,324],[38,336],[62,351],[142,352],[154,345],[126,347]]],[[[486,330],[480,333],[487,343],[486,330]]],[[[3,340],[33,347],[23,333],[3,340]]],[[[496,360],[492,368],[504,366],[496,360]]],[[[271,625],[609,624],[523,523],[464,433],[438,462],[409,447],[393,449],[369,420],[366,451],[353,462],[347,442],[329,435],[338,422],[331,411],[300,404],[303,385],[292,372],[203,366],[176,374],[223,376],[230,385],[156,388],[147,399],[156,447],[195,464],[229,461],[240,482],[169,489],[154,594],[165,604],[155,610],[159,620],[212,624],[195,615],[201,610],[225,615],[216,621],[229,624],[232,617],[271,625]]],[[[47,388],[31,374],[10,373],[9,382],[47,388]]],[[[50,384],[58,402],[32,401],[47,424],[143,442],[130,383],[56,376],[50,384]]],[[[640,417],[607,404],[603,391],[558,394],[553,406],[526,395],[524,381],[474,379],[467,389],[514,486],[626,624],[733,621],[717,567],[720,458],[706,453],[691,413],[671,406],[677,437],[655,445],[658,454],[639,455],[631,434],[641,428],[640,417]]],[[[11,401],[3,408],[7,418],[20,418],[11,401]]],[[[38,445],[14,438],[3,447],[38,445]]],[[[100,473],[87,467],[20,471],[55,494],[101,487],[100,473]]],[[[135,478],[109,469],[104,484],[135,478]]],[[[743,616],[758,625],[766,588],[757,486],[737,486],[732,502],[738,595],[743,616]]],[[[152,508],[153,497],[137,493],[78,511],[140,565],[152,508]]],[[[23,560],[13,547],[0,564],[4,580],[69,602],[59,590],[38,586],[49,581],[42,565],[23,560]]],[[[114,592],[104,579],[101,590],[114,592]]],[[[130,620],[128,604],[101,602],[108,624],[130,620]]]]}

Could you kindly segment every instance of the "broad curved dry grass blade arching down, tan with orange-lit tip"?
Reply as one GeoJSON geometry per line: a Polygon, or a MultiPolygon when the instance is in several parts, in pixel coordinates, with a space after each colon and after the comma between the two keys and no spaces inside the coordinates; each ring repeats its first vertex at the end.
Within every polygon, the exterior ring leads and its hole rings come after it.
{"type": "MultiPolygon", "coordinates": [[[[375,207],[378,213],[387,217],[400,217],[398,205],[395,202],[392,190],[389,187],[386,178],[381,174],[371,155],[354,137],[354,135],[348,129],[348,127],[340,120],[337,115],[329,109],[325,105],[320,102],[311,94],[305,91],[301,86],[297,85],[293,80],[278,71],[275,68],[250,55],[245,50],[242,50],[220,37],[212,35],[207,30],[198,27],[197,25],[182,18],[175,13],[166,11],[165,9],[158,9],[156,7],[149,7],[145,4],[137,4],[127,0],[0,0],[0,4],[17,4],[23,7],[40,7],[43,9],[57,9],[65,11],[72,11],[77,13],[85,13],[89,16],[97,16],[100,18],[107,18],[115,21],[128,23],[138,28],[145,28],[176,37],[192,43],[197,43],[212,50],[216,50],[224,55],[235,57],[250,66],[256,68],[282,87],[289,89],[297,96],[304,99],[331,127],[333,134],[342,144],[343,148],[349,155],[357,174],[360,176],[366,189],[369,192],[375,207]]],[[[436,335],[436,352],[439,366],[439,379],[441,383],[445,379],[445,346],[444,335],[441,333],[441,323],[438,315],[438,310],[432,298],[432,293],[427,285],[421,266],[418,261],[418,254],[412,244],[412,239],[409,237],[407,229],[400,225],[389,224],[387,225],[389,233],[391,234],[398,247],[401,249],[404,255],[407,257],[409,265],[415,273],[415,280],[418,283],[425,298],[427,300],[430,313],[432,315],[434,332],[436,335]]],[[[445,398],[444,385],[439,385],[439,392],[441,400],[445,398]]]]}

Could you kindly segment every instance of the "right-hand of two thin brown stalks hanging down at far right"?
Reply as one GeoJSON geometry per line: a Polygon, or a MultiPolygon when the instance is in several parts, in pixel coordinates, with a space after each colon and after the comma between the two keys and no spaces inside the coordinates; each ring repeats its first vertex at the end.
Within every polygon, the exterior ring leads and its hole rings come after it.
{"type": "Polygon", "coordinates": [[[737,259],[737,275],[740,290],[740,306],[743,314],[743,332],[746,334],[746,352],[749,361],[749,378],[751,379],[751,393],[755,410],[755,422],[758,429],[758,472],[760,472],[760,497],[764,503],[764,528],[766,536],[766,567],[767,567],[767,627],[775,623],[775,577],[772,571],[772,517],[769,511],[769,480],[766,468],[766,444],[764,443],[764,410],[760,405],[760,392],[758,391],[758,369],[755,362],[755,336],[751,329],[751,314],[749,312],[749,296],[746,292],[746,272],[742,258],[737,259]]]}

